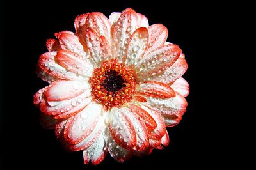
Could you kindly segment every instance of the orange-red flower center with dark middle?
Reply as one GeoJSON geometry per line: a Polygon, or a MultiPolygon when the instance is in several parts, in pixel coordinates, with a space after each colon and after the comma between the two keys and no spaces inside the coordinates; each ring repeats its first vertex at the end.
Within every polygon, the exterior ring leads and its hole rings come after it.
{"type": "Polygon", "coordinates": [[[116,59],[102,63],[99,68],[93,70],[93,75],[89,79],[94,100],[102,104],[106,110],[129,102],[136,85],[133,73],[133,70],[118,63],[116,59]]]}

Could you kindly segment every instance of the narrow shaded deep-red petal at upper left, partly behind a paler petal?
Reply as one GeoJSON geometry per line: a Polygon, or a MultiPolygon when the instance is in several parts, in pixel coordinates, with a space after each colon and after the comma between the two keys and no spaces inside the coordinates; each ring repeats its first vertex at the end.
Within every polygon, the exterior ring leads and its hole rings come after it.
{"type": "Polygon", "coordinates": [[[88,16],[88,13],[79,15],[76,17],[75,22],[74,22],[76,33],[79,38],[79,42],[83,45],[85,52],[88,52],[88,48],[87,48],[86,40],[85,40],[85,34],[86,34],[86,29],[87,29],[87,27],[86,27],[87,16],[88,16]]]}

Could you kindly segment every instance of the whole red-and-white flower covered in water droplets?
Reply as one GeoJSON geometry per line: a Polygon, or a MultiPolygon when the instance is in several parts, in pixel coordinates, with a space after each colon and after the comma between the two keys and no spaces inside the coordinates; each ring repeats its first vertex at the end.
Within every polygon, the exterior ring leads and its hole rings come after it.
{"type": "Polygon", "coordinates": [[[148,26],[127,8],[109,19],[92,12],[75,19],[76,33],[47,40],[37,73],[49,86],[34,95],[41,123],[54,128],[68,151],[84,163],[107,153],[118,162],[169,143],[166,127],[186,111],[188,65],[178,45],[166,42],[162,24],[148,26]]]}

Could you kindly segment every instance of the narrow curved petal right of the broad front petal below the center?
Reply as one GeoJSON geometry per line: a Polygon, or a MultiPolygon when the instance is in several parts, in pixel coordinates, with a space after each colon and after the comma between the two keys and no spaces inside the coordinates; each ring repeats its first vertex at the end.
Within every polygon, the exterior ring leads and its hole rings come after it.
{"type": "Polygon", "coordinates": [[[143,123],[143,121],[141,120],[141,118],[138,116],[138,114],[134,112],[129,112],[127,116],[132,121],[132,125],[136,133],[136,146],[133,149],[138,151],[143,151],[146,148],[148,148],[148,145],[149,145],[147,128],[143,123]]]}

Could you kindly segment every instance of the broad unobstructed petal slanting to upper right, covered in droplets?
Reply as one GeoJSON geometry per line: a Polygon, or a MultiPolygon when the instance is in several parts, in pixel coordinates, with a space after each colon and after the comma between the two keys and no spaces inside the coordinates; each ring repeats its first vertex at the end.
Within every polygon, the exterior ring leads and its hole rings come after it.
{"type": "Polygon", "coordinates": [[[181,50],[177,45],[164,45],[152,53],[144,56],[141,62],[136,65],[139,81],[147,80],[148,75],[161,73],[179,58],[181,50]]]}

